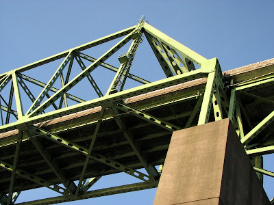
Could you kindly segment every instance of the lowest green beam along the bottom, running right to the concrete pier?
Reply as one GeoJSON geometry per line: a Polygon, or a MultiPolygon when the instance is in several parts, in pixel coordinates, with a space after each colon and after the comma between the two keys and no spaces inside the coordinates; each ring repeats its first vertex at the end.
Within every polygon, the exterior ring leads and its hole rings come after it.
{"type": "Polygon", "coordinates": [[[94,191],[88,191],[88,192],[84,193],[83,195],[79,196],[79,199],[75,198],[73,196],[60,196],[60,197],[47,198],[45,200],[35,200],[32,202],[18,203],[18,205],[58,204],[58,203],[62,203],[62,202],[72,202],[75,200],[84,200],[84,199],[88,199],[88,198],[101,197],[101,196],[105,196],[105,195],[114,195],[117,193],[127,193],[127,192],[132,192],[132,191],[152,189],[155,187],[158,187],[158,181],[151,182],[151,183],[140,182],[140,183],[135,183],[135,184],[122,185],[119,187],[111,187],[111,188],[106,188],[106,189],[98,189],[98,190],[94,190],[94,191]]]}

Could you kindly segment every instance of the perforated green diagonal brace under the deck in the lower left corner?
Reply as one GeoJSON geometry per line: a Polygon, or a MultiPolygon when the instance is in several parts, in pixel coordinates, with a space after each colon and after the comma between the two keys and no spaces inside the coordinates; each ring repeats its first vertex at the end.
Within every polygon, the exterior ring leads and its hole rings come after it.
{"type": "MultiPolygon", "coordinates": [[[[5,169],[5,170],[8,170],[9,172],[12,172],[14,170],[12,165],[10,165],[8,163],[5,163],[4,161],[0,161],[0,167],[5,169]]],[[[49,188],[53,191],[56,191],[56,192],[64,194],[64,195],[69,194],[69,192],[66,191],[66,189],[64,189],[64,188],[62,188],[62,187],[60,187],[56,184],[53,184],[52,182],[44,180],[44,179],[42,179],[38,176],[35,176],[33,174],[29,174],[28,172],[25,172],[22,169],[16,169],[15,172],[18,176],[21,176],[22,178],[26,178],[27,180],[35,182],[36,184],[39,184],[41,187],[47,187],[47,188],[49,188]]]]}

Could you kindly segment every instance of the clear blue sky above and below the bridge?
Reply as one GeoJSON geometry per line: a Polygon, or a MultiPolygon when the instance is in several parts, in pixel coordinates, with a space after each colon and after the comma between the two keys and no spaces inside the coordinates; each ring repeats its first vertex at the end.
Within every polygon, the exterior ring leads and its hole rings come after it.
{"type": "MultiPolygon", "coordinates": [[[[153,27],[203,57],[218,57],[222,70],[230,70],[274,57],[273,8],[271,0],[1,0],[0,72],[136,25],[142,14],[153,27]]],[[[272,172],[273,159],[272,154],[264,157],[264,168],[272,172]]],[[[111,178],[112,182],[118,179],[111,178]]],[[[272,198],[274,180],[264,179],[272,198]]],[[[18,202],[39,194],[22,194],[18,202]]],[[[152,204],[154,195],[151,189],[67,204],[152,204]]]]}

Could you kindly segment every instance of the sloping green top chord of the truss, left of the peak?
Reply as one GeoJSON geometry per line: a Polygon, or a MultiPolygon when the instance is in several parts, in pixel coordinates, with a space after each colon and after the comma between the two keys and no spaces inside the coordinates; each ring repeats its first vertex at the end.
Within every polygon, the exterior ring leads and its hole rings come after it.
{"type": "MultiPolygon", "coordinates": [[[[127,29],[123,29],[121,31],[118,31],[116,33],[112,33],[112,34],[110,34],[108,36],[104,36],[103,38],[99,38],[97,40],[93,40],[93,41],[88,42],[86,44],[82,44],[81,46],[76,46],[73,49],[69,49],[67,51],[63,51],[61,53],[52,55],[51,57],[47,57],[45,59],[41,59],[41,60],[36,61],[36,62],[34,62],[32,64],[28,64],[26,66],[22,66],[20,68],[16,68],[16,69],[12,70],[12,72],[16,71],[18,73],[18,72],[23,72],[23,71],[26,71],[26,70],[29,70],[29,69],[32,69],[32,68],[36,68],[38,66],[42,66],[42,65],[47,64],[47,63],[49,63],[51,61],[55,61],[55,60],[60,59],[62,57],[66,57],[66,55],[68,55],[69,52],[71,52],[71,51],[79,52],[79,51],[84,51],[86,49],[90,49],[90,48],[92,48],[94,46],[97,46],[99,44],[103,44],[104,42],[108,42],[110,40],[114,40],[116,38],[120,38],[122,36],[125,36],[125,35],[129,34],[130,32],[132,32],[135,28],[136,28],[136,25],[134,25],[132,27],[129,27],[127,29]]],[[[4,76],[5,74],[9,74],[9,73],[10,72],[5,72],[5,73],[1,74],[0,77],[4,76]]],[[[0,87],[0,89],[1,89],[1,87],[0,87]]]]}

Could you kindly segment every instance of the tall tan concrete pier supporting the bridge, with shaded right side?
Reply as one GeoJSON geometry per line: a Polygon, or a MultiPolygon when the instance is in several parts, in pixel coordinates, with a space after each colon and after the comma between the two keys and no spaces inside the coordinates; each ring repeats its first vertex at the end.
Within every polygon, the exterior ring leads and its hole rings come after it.
{"type": "Polygon", "coordinates": [[[229,119],[175,131],[153,205],[270,204],[229,119]]]}

